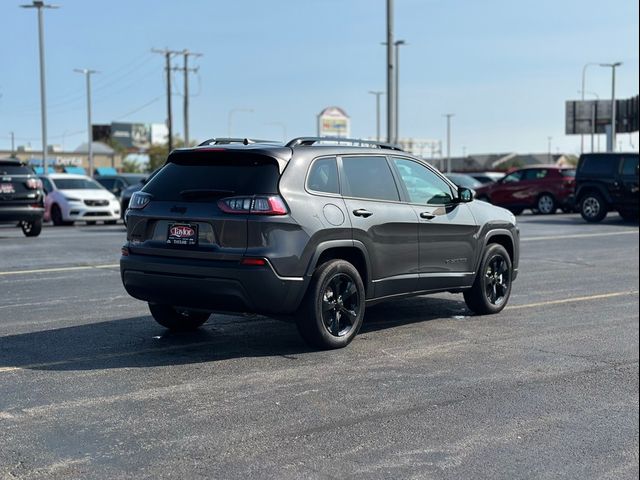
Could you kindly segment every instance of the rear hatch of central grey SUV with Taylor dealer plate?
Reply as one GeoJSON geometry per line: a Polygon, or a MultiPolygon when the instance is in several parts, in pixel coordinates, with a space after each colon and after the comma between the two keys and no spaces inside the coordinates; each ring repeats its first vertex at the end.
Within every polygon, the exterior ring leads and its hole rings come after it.
{"type": "Polygon", "coordinates": [[[249,220],[287,213],[278,193],[286,159],[268,153],[234,148],[172,152],[131,199],[131,252],[239,261],[247,250],[249,220]]]}

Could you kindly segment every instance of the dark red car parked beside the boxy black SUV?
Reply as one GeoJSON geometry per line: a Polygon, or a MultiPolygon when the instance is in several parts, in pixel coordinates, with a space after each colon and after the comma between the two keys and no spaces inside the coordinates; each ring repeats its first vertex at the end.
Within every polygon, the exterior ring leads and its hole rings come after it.
{"type": "Polygon", "coordinates": [[[476,189],[476,198],[519,215],[525,208],[543,214],[574,209],[576,171],[556,165],[515,170],[495,183],[476,189]]]}

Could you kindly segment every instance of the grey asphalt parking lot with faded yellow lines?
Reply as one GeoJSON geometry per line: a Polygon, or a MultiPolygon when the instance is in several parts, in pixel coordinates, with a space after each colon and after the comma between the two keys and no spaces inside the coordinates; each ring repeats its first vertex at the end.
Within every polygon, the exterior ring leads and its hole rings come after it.
{"type": "Polygon", "coordinates": [[[638,478],[638,225],[519,217],[509,307],[382,304],[346,349],[123,290],[124,228],[0,227],[0,478],[638,478]]]}

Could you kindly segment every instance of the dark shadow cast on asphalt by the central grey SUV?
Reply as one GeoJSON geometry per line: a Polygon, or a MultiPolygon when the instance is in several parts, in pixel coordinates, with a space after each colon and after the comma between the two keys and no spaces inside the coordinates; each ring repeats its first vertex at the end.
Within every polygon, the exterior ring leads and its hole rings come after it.
{"type": "MultiPolygon", "coordinates": [[[[360,335],[371,340],[372,334],[393,335],[403,325],[470,315],[462,297],[399,300],[368,308],[360,335]]],[[[315,352],[293,323],[258,315],[213,315],[187,333],[169,332],[140,316],[6,336],[0,345],[0,371],[148,368],[315,352]]]]}

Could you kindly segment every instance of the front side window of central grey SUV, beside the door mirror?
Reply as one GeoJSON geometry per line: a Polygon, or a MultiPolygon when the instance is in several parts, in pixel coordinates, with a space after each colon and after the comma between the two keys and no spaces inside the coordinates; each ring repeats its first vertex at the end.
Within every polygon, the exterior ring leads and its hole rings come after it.
{"type": "Polygon", "coordinates": [[[412,203],[446,205],[453,201],[449,184],[424,165],[406,158],[394,158],[412,203]]]}

